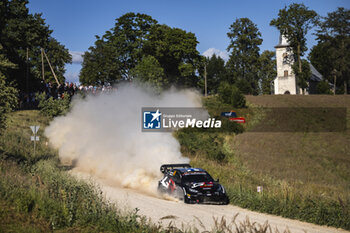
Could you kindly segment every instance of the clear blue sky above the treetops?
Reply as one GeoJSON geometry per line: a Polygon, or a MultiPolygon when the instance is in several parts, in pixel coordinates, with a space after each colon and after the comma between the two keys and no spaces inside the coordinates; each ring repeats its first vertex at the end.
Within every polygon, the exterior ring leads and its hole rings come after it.
{"type": "MultiPolygon", "coordinates": [[[[27,6],[30,13],[43,14],[53,30],[52,36],[70,51],[73,63],[66,65],[65,77],[69,82],[78,82],[81,55],[94,45],[95,35],[102,36],[125,13],[148,14],[160,24],[192,32],[201,54],[215,53],[227,59],[227,32],[237,18],[247,17],[257,25],[263,39],[261,52],[274,50],[279,31],[270,26],[270,21],[280,9],[294,2],[304,3],[320,16],[337,7],[350,8],[350,0],[29,0],[27,6]]],[[[316,43],[310,32],[308,48],[316,43]]]]}

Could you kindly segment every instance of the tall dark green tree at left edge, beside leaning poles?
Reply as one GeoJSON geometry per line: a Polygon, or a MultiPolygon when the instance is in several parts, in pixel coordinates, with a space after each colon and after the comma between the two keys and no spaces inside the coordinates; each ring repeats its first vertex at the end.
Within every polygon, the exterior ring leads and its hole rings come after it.
{"type": "MultiPolygon", "coordinates": [[[[71,62],[68,50],[55,40],[41,14],[29,14],[27,0],[3,0],[0,3],[0,43],[7,58],[17,69],[5,71],[21,91],[33,91],[40,85],[41,52],[44,48],[55,72],[64,81],[64,65],[71,62]]],[[[49,71],[49,68],[46,67],[49,71]]],[[[52,74],[46,73],[50,81],[52,74]]]]}

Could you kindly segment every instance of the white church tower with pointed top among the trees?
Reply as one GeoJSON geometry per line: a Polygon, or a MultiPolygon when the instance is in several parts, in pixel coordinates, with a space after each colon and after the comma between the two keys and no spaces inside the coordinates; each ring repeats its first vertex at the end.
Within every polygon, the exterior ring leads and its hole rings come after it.
{"type": "Polygon", "coordinates": [[[275,46],[277,77],[274,80],[275,95],[299,94],[296,78],[292,69],[294,63],[293,51],[289,47],[287,38],[280,35],[279,44],[275,46]]]}

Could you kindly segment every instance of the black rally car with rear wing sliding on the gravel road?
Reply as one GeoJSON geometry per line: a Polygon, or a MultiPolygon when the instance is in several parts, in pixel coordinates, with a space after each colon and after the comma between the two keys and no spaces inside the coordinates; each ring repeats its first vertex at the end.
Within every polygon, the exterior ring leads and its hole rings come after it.
{"type": "Polygon", "coordinates": [[[228,204],[225,188],[201,168],[189,164],[164,164],[164,174],[158,182],[158,191],[167,193],[185,203],[228,204]]]}

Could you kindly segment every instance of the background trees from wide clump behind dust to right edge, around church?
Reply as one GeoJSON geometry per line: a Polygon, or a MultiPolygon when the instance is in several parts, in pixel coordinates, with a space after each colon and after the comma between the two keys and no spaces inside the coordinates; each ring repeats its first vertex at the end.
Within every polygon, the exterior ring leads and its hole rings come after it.
{"type": "MultiPolygon", "coordinates": [[[[297,84],[303,92],[311,77],[309,61],[303,59],[306,35],[315,28],[319,43],[312,48],[309,60],[329,83],[349,83],[349,10],[338,8],[320,18],[304,4],[290,4],[271,20],[291,44],[297,84]],[[331,55],[330,55],[331,54],[331,55]],[[326,58],[326,59],[324,59],[326,58]]],[[[207,77],[209,94],[218,92],[222,83],[235,85],[244,94],[271,94],[276,77],[275,53],[260,52],[262,37],[257,25],[248,18],[238,18],[229,28],[229,60],[213,55],[205,58],[196,49],[196,36],[179,28],[160,25],[146,14],[127,13],[116,19],[115,26],[84,54],[80,81],[101,85],[122,80],[152,83],[158,89],[169,86],[195,87],[204,90],[207,77]],[[206,68],[206,69],[205,69],[206,68]]]]}

